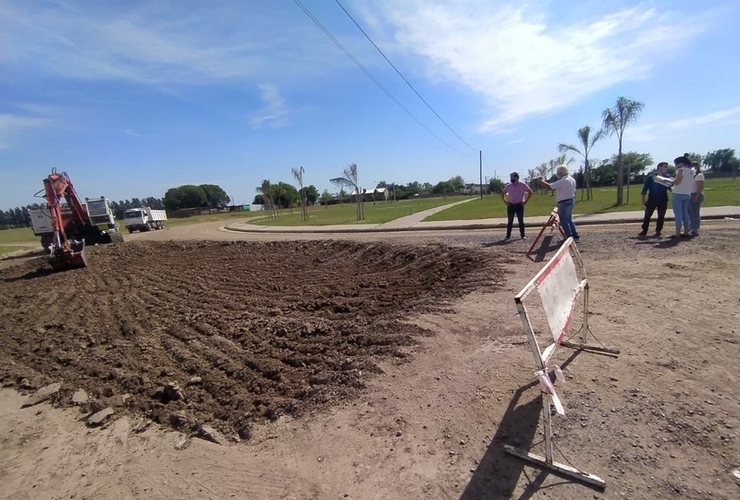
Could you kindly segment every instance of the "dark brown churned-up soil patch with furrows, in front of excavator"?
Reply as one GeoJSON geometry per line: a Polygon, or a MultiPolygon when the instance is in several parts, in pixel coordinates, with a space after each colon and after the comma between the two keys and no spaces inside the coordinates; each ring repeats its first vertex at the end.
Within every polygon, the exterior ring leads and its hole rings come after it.
{"type": "Polygon", "coordinates": [[[444,245],[136,242],[90,248],[89,267],[41,258],[2,271],[0,380],[61,382],[71,405],[126,408],[248,438],[281,414],[352,397],[377,357],[426,332],[405,321],[493,286],[489,253],[444,245]]]}

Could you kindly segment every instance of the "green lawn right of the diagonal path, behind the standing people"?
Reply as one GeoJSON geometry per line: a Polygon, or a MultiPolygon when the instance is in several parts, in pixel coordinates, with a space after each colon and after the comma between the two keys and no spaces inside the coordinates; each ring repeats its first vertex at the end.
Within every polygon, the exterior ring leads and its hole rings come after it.
{"type": "MultiPolygon", "coordinates": [[[[643,210],[640,191],[642,185],[630,186],[630,201],[620,206],[614,206],[617,200],[617,188],[593,188],[593,199],[586,201],[581,199],[581,190],[576,193],[576,214],[593,214],[609,212],[629,212],[643,210]]],[[[705,199],[703,207],[721,207],[727,205],[740,205],[740,179],[709,179],[704,185],[705,199]]],[[[624,200],[627,200],[627,188],[624,190],[624,200]]],[[[527,203],[526,215],[539,216],[549,215],[555,207],[555,198],[552,191],[535,194],[527,203]]],[[[670,209],[670,202],[668,204],[670,209]]],[[[501,201],[499,195],[487,195],[482,200],[477,199],[470,203],[464,203],[456,207],[443,210],[427,221],[448,220],[475,220],[506,217],[506,205],[501,201]]]]}

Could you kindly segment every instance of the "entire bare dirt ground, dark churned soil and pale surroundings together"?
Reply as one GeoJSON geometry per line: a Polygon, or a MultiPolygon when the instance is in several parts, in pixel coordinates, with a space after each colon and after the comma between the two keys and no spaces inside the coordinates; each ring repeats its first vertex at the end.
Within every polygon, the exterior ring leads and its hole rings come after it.
{"type": "Polygon", "coordinates": [[[703,229],[581,229],[589,324],[621,353],[556,352],[555,459],[603,491],[503,451],[543,453],[513,296],[549,238],[529,259],[490,231],[214,223],[65,273],[5,259],[0,497],[737,498],[740,224],[703,229]]]}

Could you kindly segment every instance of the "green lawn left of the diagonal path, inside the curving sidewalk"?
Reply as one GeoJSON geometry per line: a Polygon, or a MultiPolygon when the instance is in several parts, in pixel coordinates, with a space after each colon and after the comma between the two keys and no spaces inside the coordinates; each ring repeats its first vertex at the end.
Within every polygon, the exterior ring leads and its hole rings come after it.
{"type": "MultiPolygon", "coordinates": [[[[301,209],[282,210],[277,219],[260,219],[256,224],[265,226],[331,226],[337,224],[383,224],[392,220],[411,215],[416,212],[448,205],[468,199],[469,196],[448,196],[445,198],[419,198],[398,201],[365,202],[365,219],[357,220],[356,205],[342,203],[339,205],[309,207],[308,220],[301,220],[301,209]]],[[[267,212],[254,212],[267,216],[267,212]]]]}

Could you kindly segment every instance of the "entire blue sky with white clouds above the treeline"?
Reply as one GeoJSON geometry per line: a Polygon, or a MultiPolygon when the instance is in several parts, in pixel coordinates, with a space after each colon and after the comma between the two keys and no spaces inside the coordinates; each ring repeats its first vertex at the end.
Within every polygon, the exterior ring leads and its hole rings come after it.
{"type": "Polygon", "coordinates": [[[626,151],[737,150],[738,26],[735,0],[1,0],[0,208],[40,201],[52,167],[113,200],[218,184],[249,203],[301,166],[336,192],[349,163],[368,188],[477,182],[478,151],[505,179],[619,96],[645,103],[626,151]]]}

